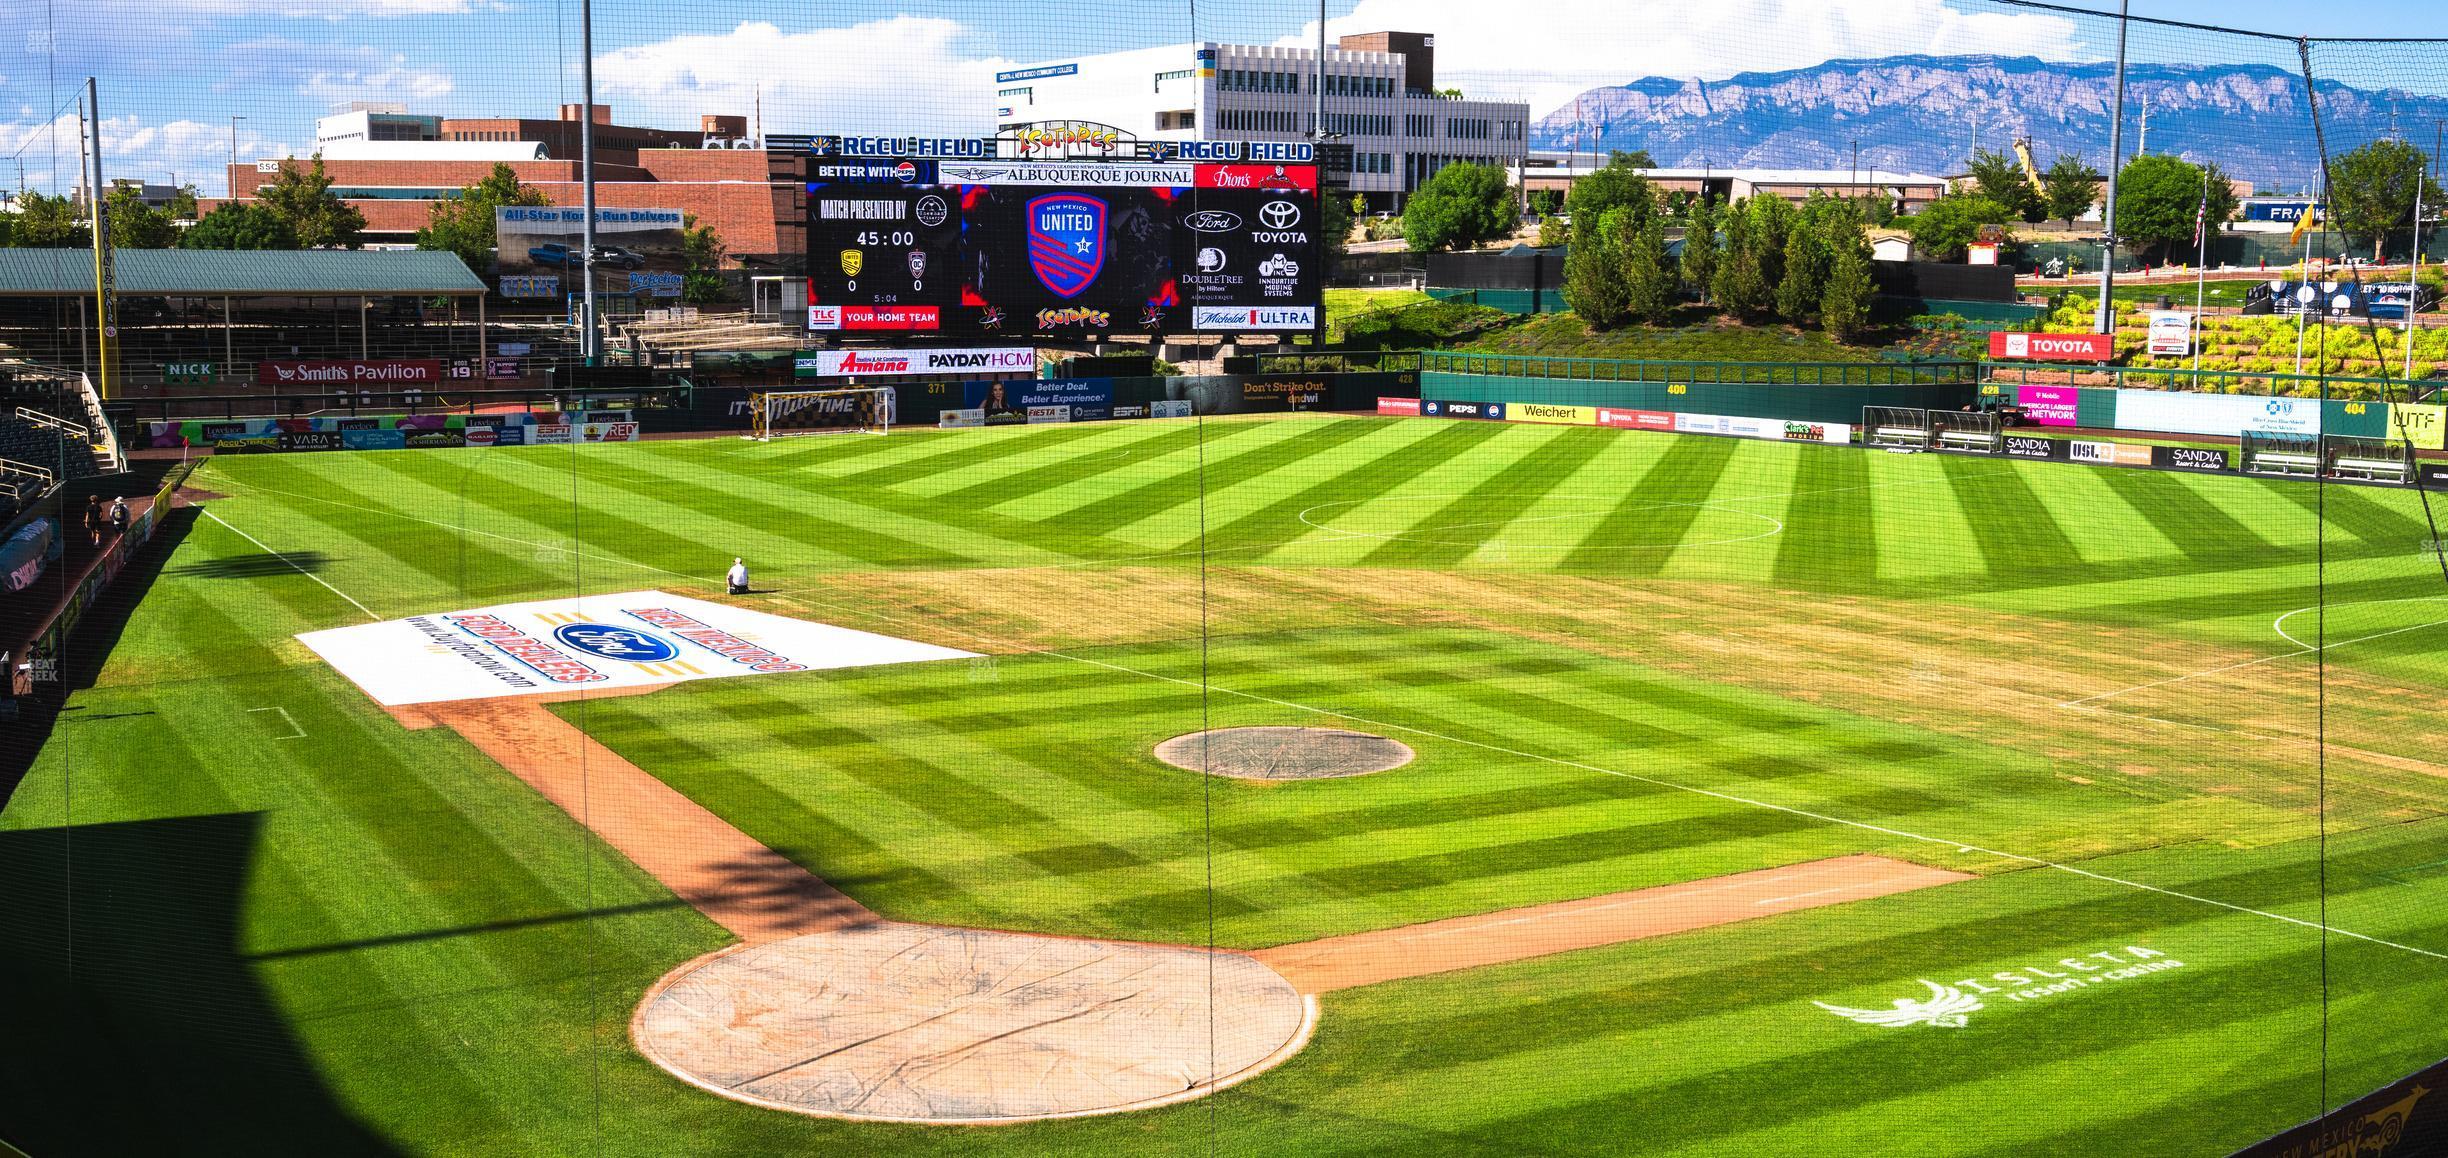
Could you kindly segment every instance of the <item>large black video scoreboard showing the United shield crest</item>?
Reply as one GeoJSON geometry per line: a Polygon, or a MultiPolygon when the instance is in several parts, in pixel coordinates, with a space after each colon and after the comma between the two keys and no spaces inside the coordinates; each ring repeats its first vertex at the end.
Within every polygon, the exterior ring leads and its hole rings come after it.
{"type": "Polygon", "coordinates": [[[808,328],[1290,333],[1319,321],[1315,164],[813,159],[808,328]]]}

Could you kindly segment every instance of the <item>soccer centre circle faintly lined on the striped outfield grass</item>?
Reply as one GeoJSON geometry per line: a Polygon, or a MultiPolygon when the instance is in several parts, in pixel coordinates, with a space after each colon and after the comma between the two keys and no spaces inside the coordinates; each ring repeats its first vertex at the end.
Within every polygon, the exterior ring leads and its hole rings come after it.
{"type": "Polygon", "coordinates": [[[1378,495],[1305,507],[1300,521],[1346,539],[1383,539],[1420,546],[1503,546],[1508,551],[1667,551],[1682,546],[1731,546],[1785,534],[1785,519],[1723,502],[1625,504],[1623,495],[1542,495],[1537,507],[1513,517],[1474,517],[1420,524],[1459,499],[1486,504],[1503,495],[1378,495]],[[1562,507],[1562,509],[1557,509],[1562,507]],[[1603,521],[1628,521],[1591,541],[1603,521]],[[1655,526],[1650,526],[1655,524],[1655,526]]]}

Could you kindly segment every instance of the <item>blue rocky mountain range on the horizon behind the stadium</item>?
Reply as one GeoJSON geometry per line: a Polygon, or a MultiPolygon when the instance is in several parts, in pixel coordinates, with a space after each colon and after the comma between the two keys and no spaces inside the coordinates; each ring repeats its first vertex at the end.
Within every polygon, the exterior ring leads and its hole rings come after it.
{"type": "MultiPolygon", "coordinates": [[[[2321,81],[2328,152],[2404,130],[2431,152],[2448,98],[2321,81]]],[[[1530,127],[1532,149],[1648,149],[1667,169],[1863,169],[1961,174],[1973,140],[2007,152],[2029,137],[2056,154],[2108,157],[2113,64],[2034,56],[1880,56],[1723,81],[1648,76],[1591,88],[1530,127]]],[[[2132,64],[2125,154],[2218,162],[2269,191],[2318,181],[2304,76],[2267,64],[2132,64]],[[2147,122],[2147,127],[2144,127],[2147,122]]]]}

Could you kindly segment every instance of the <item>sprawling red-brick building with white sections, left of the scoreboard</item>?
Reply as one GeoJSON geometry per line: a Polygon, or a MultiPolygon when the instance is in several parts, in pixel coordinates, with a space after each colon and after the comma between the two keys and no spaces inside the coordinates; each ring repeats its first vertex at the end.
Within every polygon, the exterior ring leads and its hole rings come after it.
{"type": "MultiPolygon", "coordinates": [[[[509,164],[521,184],[556,206],[583,203],[578,164],[578,115],[561,118],[404,118],[375,113],[406,130],[362,132],[367,118],[353,110],[323,118],[318,149],[333,193],[365,213],[367,245],[414,245],[436,201],[482,181],[494,164],[509,164]],[[426,127],[431,125],[431,127],[426,127]]],[[[595,105],[595,201],[605,208],[678,208],[722,237],[725,264],[796,269],[808,250],[800,189],[808,162],[798,152],[739,149],[744,118],[707,115],[695,132],[614,125],[610,105],[595,105]],[[712,147],[707,147],[712,144],[712,147]]],[[[379,120],[377,120],[379,125],[379,120]]],[[[230,166],[230,191],[250,201],[279,174],[279,159],[230,166]]],[[[203,201],[211,211],[220,201],[203,201]]]]}

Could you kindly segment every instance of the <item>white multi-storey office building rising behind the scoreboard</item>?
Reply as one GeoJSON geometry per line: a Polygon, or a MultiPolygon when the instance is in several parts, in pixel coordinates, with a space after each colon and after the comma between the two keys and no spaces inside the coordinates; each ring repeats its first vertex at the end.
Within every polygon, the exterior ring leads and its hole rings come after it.
{"type": "MultiPolygon", "coordinates": [[[[1327,142],[1351,147],[1346,189],[1373,208],[1454,162],[1520,166],[1530,105],[1437,95],[1437,37],[1371,32],[1327,49],[1327,142]]],[[[996,127],[1111,125],[1141,140],[1310,140],[1317,49],[1168,44],[996,73],[996,127]]]]}

